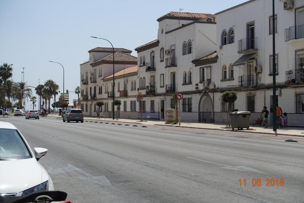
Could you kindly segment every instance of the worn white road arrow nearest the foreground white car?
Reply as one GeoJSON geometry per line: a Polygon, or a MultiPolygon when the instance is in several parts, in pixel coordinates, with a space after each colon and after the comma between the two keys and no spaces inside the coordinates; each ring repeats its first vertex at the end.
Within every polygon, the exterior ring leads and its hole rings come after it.
{"type": "Polygon", "coordinates": [[[65,166],[63,168],[57,168],[57,169],[49,168],[49,170],[47,170],[47,172],[60,176],[60,177],[64,177],[63,175],[61,175],[62,173],[68,173],[73,170],[77,170],[78,172],[87,176],[87,177],[80,177],[80,179],[82,179],[82,180],[87,180],[92,183],[96,183],[99,185],[113,188],[112,184],[110,183],[110,181],[108,180],[108,178],[106,176],[93,176],[92,174],[87,173],[84,170],[81,170],[80,168],[73,166],[72,164],[67,164],[67,166],[65,166]]]}

